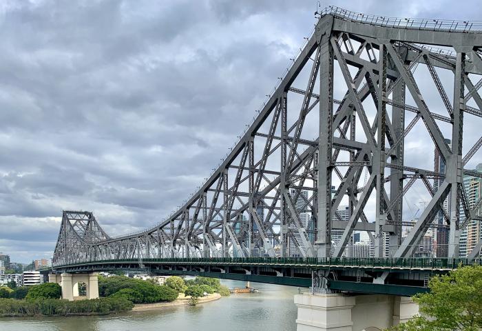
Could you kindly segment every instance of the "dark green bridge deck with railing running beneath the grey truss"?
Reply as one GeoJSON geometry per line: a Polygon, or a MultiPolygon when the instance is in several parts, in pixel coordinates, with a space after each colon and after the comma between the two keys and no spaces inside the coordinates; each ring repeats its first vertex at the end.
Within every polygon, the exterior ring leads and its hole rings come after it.
{"type": "Polygon", "coordinates": [[[345,292],[413,295],[426,292],[426,279],[446,274],[460,265],[480,265],[481,259],[378,259],[378,258],[194,258],[109,259],[54,265],[54,272],[136,270],[257,281],[310,287],[313,275],[323,272],[328,288],[345,292]],[[386,283],[374,279],[388,272],[386,283]]]}

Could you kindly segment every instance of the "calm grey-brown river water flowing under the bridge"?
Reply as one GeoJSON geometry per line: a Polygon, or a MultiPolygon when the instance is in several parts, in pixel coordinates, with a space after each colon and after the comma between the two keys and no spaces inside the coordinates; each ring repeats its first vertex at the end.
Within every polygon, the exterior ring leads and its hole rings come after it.
{"type": "MultiPolygon", "coordinates": [[[[238,281],[222,281],[230,288],[244,287],[238,281]]],[[[0,318],[1,331],[247,331],[296,330],[297,288],[251,283],[260,293],[231,297],[202,305],[180,306],[151,312],[90,317],[0,318]]]]}

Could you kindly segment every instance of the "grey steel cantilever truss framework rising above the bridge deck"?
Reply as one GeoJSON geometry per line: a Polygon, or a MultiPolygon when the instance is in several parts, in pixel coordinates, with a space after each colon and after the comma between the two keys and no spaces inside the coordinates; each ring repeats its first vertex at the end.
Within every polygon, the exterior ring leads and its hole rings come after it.
{"type": "MultiPolygon", "coordinates": [[[[423,287],[427,274],[459,261],[461,232],[482,219],[482,200],[470,200],[463,185],[464,175],[482,177],[465,169],[482,136],[463,145],[464,121],[482,124],[481,55],[482,23],[326,8],[253,123],[196,193],[160,224],[121,237],[110,237],[91,212],[64,211],[53,268],[423,287]],[[415,78],[417,67],[426,68],[425,80],[415,78]],[[417,124],[443,170],[406,164],[405,140],[417,124]],[[416,182],[431,199],[408,222],[403,200],[416,182]],[[366,214],[370,200],[374,216],[366,214]],[[337,212],[342,202],[348,218],[337,212]],[[410,228],[406,237],[402,226],[410,228]],[[407,269],[429,228],[448,233],[446,256],[424,260],[430,272],[407,269]],[[374,258],[338,265],[351,261],[354,230],[368,232],[374,258]]],[[[468,258],[476,259],[481,245],[468,258]]]]}

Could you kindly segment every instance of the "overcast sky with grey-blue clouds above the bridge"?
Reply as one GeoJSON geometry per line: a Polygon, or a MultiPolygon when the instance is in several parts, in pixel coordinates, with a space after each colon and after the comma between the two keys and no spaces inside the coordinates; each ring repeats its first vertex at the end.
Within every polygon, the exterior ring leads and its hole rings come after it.
{"type": "MultiPolygon", "coordinates": [[[[316,2],[0,1],[0,251],[51,257],[63,209],[109,234],[169,214],[253,117],[316,2]]],[[[331,4],[482,17],[479,1],[331,4]]]]}

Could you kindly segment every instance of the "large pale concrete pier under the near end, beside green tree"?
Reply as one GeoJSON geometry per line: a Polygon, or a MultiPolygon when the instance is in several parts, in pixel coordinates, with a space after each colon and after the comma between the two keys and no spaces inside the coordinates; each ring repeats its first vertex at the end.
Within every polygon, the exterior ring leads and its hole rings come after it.
{"type": "Polygon", "coordinates": [[[368,294],[296,294],[297,331],[377,331],[418,313],[409,297],[368,294]]]}

